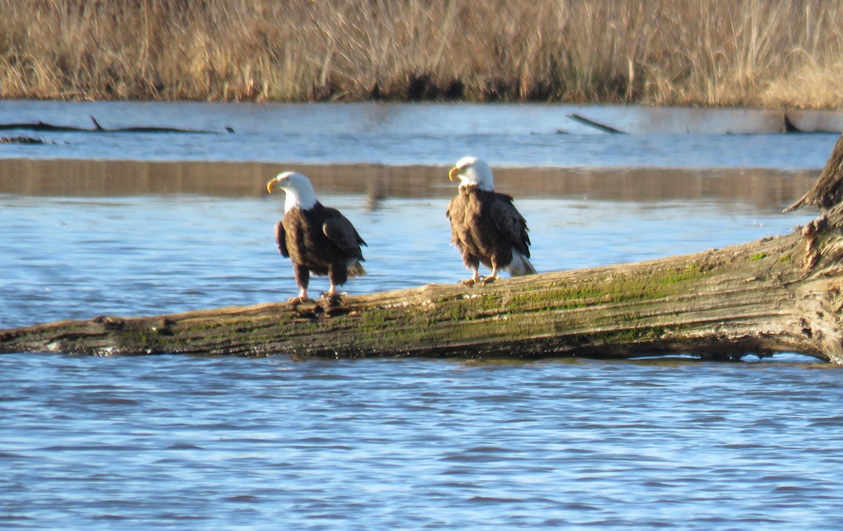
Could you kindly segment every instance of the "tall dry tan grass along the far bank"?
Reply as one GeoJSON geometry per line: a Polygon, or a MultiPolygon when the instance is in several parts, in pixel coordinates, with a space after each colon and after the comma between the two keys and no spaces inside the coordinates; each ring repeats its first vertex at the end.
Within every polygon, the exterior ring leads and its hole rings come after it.
{"type": "Polygon", "coordinates": [[[843,107],[824,0],[0,0],[0,97],[843,107]]]}

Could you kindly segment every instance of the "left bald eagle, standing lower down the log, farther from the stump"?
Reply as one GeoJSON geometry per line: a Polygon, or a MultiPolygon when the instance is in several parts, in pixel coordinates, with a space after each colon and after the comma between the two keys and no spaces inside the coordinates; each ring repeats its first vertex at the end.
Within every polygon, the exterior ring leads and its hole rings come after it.
{"type": "Polygon", "coordinates": [[[298,284],[298,297],[290,299],[298,304],[308,298],[310,273],[328,275],[330,289],[323,293],[331,301],[339,300],[337,286],[348,277],[366,274],[361,262],[363,242],[352,222],[339,210],[331,209],[316,199],[313,185],[301,173],[280,173],[269,183],[286,192],[284,217],[275,226],[278,251],[293,262],[293,275],[298,284]]]}

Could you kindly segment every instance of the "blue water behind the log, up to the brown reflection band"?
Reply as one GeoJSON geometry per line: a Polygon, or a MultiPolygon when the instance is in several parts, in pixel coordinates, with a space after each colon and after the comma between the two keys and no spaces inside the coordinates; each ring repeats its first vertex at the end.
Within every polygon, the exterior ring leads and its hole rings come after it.
{"type": "MultiPolygon", "coordinates": [[[[323,195],[357,226],[368,275],[351,294],[455,283],[448,199],[323,195]]],[[[813,216],[743,204],[518,199],[538,271],[636,262],[785,234],[813,216]]],[[[0,328],[101,314],[157,315],[296,295],[272,236],[282,198],[0,195],[0,328]]],[[[312,280],[314,293],[327,289],[312,280]]]]}

